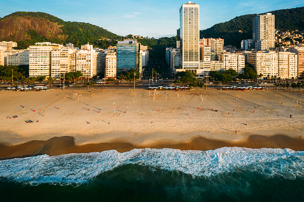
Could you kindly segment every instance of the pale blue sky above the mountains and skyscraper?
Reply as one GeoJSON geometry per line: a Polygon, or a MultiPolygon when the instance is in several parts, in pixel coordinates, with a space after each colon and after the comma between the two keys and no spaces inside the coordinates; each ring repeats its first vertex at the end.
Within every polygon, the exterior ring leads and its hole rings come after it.
{"type": "MultiPolygon", "coordinates": [[[[1,0],[0,17],[16,11],[46,12],[64,21],[88,22],[118,35],[176,35],[180,0],[1,0]]],[[[192,1],[200,5],[200,29],[236,16],[304,6],[303,0],[192,1]]]]}

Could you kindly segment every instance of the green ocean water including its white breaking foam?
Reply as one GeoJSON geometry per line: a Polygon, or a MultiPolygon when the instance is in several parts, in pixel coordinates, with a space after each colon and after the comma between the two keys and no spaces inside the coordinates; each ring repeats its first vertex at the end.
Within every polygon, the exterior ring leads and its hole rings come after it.
{"type": "Polygon", "coordinates": [[[0,201],[304,201],[304,151],[133,149],[0,161],[0,201]]]}

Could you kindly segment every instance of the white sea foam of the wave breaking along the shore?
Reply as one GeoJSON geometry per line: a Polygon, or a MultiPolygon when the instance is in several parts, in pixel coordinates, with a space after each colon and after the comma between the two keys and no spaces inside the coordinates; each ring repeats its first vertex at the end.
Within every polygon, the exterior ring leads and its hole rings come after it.
{"type": "Polygon", "coordinates": [[[216,177],[236,170],[257,172],[265,177],[304,177],[304,152],[290,149],[248,149],[223,147],[216,150],[133,149],[119,153],[47,155],[0,161],[0,180],[36,185],[51,183],[79,185],[99,174],[126,164],[148,166],[151,170],[175,170],[193,177],[216,177]]]}

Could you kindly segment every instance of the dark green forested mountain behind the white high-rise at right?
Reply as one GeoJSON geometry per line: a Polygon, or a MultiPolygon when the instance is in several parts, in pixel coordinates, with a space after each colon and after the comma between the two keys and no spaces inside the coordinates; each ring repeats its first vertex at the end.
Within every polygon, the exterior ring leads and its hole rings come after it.
{"type": "MultiPolygon", "coordinates": [[[[275,29],[304,30],[304,7],[270,11],[275,15],[275,29]]],[[[241,15],[228,22],[201,30],[200,38],[222,38],[224,45],[240,48],[243,39],[252,39],[252,19],[257,14],[241,15]],[[243,33],[239,32],[242,30],[243,33]]]]}

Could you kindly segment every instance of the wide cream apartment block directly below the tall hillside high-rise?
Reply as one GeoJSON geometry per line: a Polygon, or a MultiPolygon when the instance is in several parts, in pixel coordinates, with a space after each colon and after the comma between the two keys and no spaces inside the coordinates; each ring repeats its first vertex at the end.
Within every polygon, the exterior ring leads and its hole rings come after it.
{"type": "Polygon", "coordinates": [[[278,53],[275,51],[248,53],[248,63],[254,66],[257,75],[278,77],[278,53]]]}

